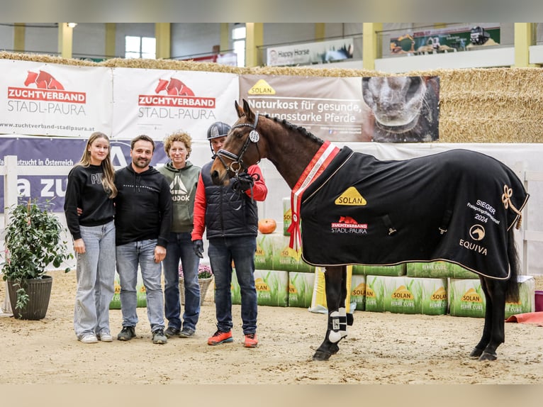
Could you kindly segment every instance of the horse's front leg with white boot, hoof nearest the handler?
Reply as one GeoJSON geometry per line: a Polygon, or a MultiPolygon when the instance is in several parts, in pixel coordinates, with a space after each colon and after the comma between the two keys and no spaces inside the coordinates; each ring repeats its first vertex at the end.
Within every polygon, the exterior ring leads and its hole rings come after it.
{"type": "Polygon", "coordinates": [[[340,347],[337,346],[337,342],[342,339],[342,333],[340,332],[340,308],[342,307],[341,301],[343,300],[343,308],[345,312],[345,296],[342,292],[347,288],[342,289],[342,285],[345,285],[343,281],[345,278],[343,274],[347,275],[347,267],[345,266],[333,266],[326,267],[325,271],[325,292],[326,292],[326,306],[328,307],[328,329],[323,343],[320,344],[318,349],[313,355],[313,360],[328,360],[330,356],[337,353],[340,347]]]}

